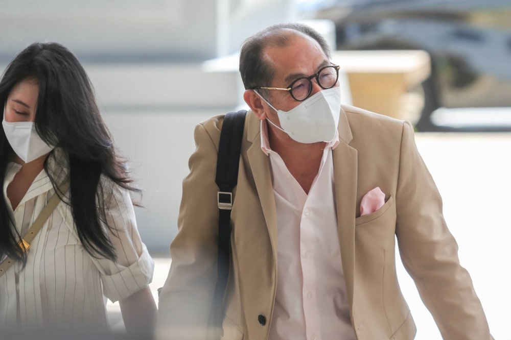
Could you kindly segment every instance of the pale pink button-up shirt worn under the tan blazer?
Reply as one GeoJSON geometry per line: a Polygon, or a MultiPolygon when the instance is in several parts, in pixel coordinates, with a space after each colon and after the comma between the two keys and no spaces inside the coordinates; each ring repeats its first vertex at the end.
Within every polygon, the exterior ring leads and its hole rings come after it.
{"type": "Polygon", "coordinates": [[[271,150],[266,121],[261,149],[268,155],[278,229],[277,292],[269,340],[356,340],[342,272],[332,149],[327,144],[309,195],[271,150]]]}

